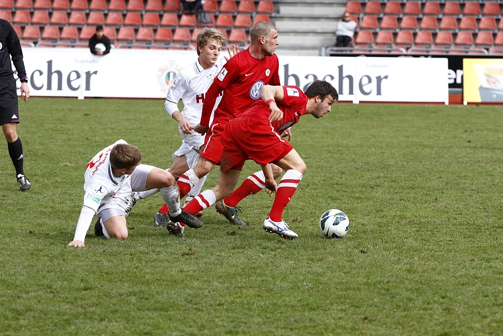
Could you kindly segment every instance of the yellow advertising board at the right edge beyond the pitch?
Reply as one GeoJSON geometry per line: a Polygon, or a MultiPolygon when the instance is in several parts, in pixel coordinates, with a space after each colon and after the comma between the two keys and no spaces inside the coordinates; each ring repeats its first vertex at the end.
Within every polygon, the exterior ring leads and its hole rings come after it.
{"type": "Polygon", "coordinates": [[[503,102],[503,59],[463,59],[463,101],[503,102]]]}

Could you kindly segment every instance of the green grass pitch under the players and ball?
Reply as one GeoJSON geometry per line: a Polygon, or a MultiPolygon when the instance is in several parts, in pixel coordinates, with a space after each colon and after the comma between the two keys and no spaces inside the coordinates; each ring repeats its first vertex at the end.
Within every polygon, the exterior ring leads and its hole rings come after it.
{"type": "MultiPolygon", "coordinates": [[[[240,204],[245,228],[214,208],[186,237],[153,227],[159,194],[128,217],[129,239],[70,248],[83,171],[118,139],[167,168],[181,138],[162,101],[20,102],[20,192],[0,150],[0,335],[503,334],[500,106],[336,104],[301,118],[307,172],[266,233],[265,192],[240,204]],[[337,208],[342,239],[318,228],[337,208]]],[[[248,162],[241,180],[259,166],[248,162]]],[[[216,183],[210,174],[206,187],[216,183]]]]}

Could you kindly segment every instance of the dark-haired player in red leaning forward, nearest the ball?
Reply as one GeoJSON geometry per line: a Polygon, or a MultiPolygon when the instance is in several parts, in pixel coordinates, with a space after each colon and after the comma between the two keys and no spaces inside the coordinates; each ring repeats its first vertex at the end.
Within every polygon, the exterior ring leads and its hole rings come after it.
{"type": "Polygon", "coordinates": [[[298,235],[289,229],[282,215],[306,171],[306,165],[280,134],[296,124],[301,115],[322,117],[338,101],[339,95],[330,83],[317,80],[305,94],[296,86],[266,85],[262,87],[261,96],[262,99],[243,115],[229,121],[222,134],[224,148],[217,185],[197,195],[184,210],[194,214],[222,199],[225,195],[222,190],[235,187],[244,163],[250,158],[262,166],[269,193],[276,192],[271,212],[264,221],[264,230],[294,239],[298,235]],[[278,118],[279,121],[272,121],[278,118]],[[286,171],[279,184],[274,180],[271,163],[286,171]]]}

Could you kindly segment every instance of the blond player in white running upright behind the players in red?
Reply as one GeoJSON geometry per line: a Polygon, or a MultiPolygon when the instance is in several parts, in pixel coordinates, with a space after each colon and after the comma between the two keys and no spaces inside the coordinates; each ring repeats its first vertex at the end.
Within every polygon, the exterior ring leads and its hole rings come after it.
{"type": "MultiPolygon", "coordinates": [[[[224,56],[220,60],[218,57],[225,43],[225,37],[215,28],[204,28],[197,35],[197,53],[198,59],[182,70],[175,81],[172,83],[166,93],[166,101],[164,107],[166,111],[177,120],[179,123],[179,131],[182,136],[182,146],[173,154],[173,164],[169,172],[178,179],[187,170],[194,168],[199,160],[201,147],[204,144],[204,136],[193,130],[201,120],[201,110],[205,99],[206,91],[213,83],[213,79],[220,72],[222,66],[229,58],[232,58],[239,47],[232,45],[232,49],[227,47],[229,57],[224,56]],[[178,110],[178,102],[182,99],[184,109],[182,112],[178,110]]],[[[220,97],[217,98],[217,104],[220,97]]],[[[203,187],[206,176],[199,179],[197,185],[192,190],[194,196],[197,195],[203,187]]],[[[130,207],[134,206],[139,199],[148,197],[158,190],[149,190],[144,192],[133,192],[131,194],[130,207]]],[[[188,194],[186,203],[194,198],[192,194],[188,194]]],[[[162,212],[167,212],[168,209],[164,205],[162,212]]],[[[202,215],[196,214],[196,216],[202,215]]],[[[166,223],[167,228],[172,233],[177,233],[174,223],[166,223]]]]}

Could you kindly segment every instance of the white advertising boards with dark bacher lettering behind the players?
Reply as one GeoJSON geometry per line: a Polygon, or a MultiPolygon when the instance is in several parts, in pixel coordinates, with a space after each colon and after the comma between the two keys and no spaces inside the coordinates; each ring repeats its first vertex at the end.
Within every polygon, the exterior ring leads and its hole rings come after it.
{"type": "MultiPolygon", "coordinates": [[[[112,49],[96,56],[87,49],[27,48],[23,54],[31,96],[79,99],[164,98],[178,72],[197,59],[189,50],[112,49]]],[[[449,101],[446,58],[279,56],[279,61],[283,85],[305,90],[323,79],[338,89],[341,101],[449,101]]]]}

